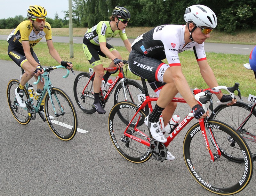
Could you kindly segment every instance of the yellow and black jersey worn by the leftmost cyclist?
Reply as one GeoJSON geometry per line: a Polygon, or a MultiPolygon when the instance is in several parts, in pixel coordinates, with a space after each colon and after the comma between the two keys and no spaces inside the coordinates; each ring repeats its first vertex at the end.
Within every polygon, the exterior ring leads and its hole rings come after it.
{"type": "Polygon", "coordinates": [[[22,41],[29,41],[29,46],[32,48],[45,36],[46,40],[52,39],[52,29],[48,22],[45,22],[44,30],[36,33],[33,31],[32,23],[29,20],[21,22],[16,29],[8,36],[7,41],[10,45],[17,49],[22,49],[22,41]]]}

